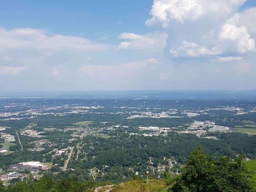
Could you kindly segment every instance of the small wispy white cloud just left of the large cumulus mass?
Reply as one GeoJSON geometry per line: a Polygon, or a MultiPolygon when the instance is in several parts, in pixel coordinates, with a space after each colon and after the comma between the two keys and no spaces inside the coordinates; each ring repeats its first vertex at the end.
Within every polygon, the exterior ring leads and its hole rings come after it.
{"type": "Polygon", "coordinates": [[[128,39],[129,42],[122,42],[118,49],[151,50],[161,51],[166,47],[167,35],[164,33],[147,33],[139,35],[134,33],[122,33],[121,39],[128,39]]]}

